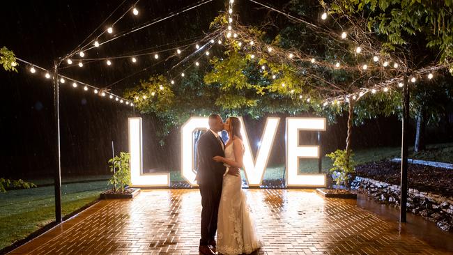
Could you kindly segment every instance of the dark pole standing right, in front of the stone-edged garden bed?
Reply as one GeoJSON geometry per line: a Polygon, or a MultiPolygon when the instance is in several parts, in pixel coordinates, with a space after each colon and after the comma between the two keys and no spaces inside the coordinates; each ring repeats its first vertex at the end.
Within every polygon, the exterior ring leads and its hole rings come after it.
{"type": "Polygon", "coordinates": [[[408,195],[408,124],[409,124],[409,88],[403,86],[403,120],[401,121],[401,207],[399,222],[406,222],[406,203],[408,195]]]}

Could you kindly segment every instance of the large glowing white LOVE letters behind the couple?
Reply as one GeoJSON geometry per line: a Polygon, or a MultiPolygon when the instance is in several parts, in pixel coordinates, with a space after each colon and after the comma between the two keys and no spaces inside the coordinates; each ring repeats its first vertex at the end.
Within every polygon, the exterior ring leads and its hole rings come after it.
{"type": "MultiPolygon", "coordinates": [[[[256,158],[252,156],[247,132],[240,118],[245,146],[244,171],[249,187],[259,187],[268,164],[270,149],[280,118],[267,118],[256,158]]],[[[208,130],[208,117],[192,117],[181,127],[181,176],[190,185],[197,185],[194,166],[194,132],[208,130]]],[[[299,130],[325,130],[325,118],[286,118],[286,185],[288,187],[323,187],[325,174],[298,175],[299,159],[318,158],[318,146],[300,146],[299,130]]],[[[168,174],[142,173],[141,118],[129,118],[129,143],[132,186],[168,186],[168,174]]]]}

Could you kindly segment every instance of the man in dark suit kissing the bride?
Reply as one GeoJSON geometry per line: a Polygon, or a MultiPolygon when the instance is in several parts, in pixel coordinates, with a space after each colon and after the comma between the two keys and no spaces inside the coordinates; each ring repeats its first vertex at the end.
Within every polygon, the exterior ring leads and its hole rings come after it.
{"type": "Polygon", "coordinates": [[[217,231],[217,213],[224,173],[238,176],[238,168],[224,167],[215,162],[213,157],[224,157],[225,144],[219,132],[223,130],[223,120],[218,114],[209,116],[209,130],[201,135],[197,142],[197,184],[201,194],[201,239],[199,252],[215,254],[215,232],[217,231]]]}

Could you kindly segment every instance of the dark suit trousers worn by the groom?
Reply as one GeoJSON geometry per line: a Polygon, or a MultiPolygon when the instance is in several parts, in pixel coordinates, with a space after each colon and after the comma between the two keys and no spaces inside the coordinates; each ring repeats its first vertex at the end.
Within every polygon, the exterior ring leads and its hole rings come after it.
{"type": "Polygon", "coordinates": [[[200,245],[208,245],[215,240],[217,232],[217,215],[219,213],[222,182],[217,185],[199,184],[201,194],[201,239],[200,245]]]}

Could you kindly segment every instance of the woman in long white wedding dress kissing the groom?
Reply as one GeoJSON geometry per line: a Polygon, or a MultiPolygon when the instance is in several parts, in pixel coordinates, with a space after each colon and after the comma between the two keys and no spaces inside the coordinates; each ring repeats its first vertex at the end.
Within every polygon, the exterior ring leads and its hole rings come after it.
{"type": "MultiPolygon", "coordinates": [[[[240,135],[239,118],[227,118],[224,130],[229,137],[225,145],[225,157],[215,156],[213,160],[223,162],[227,167],[241,168],[245,148],[240,135]]],[[[263,246],[255,231],[241,183],[240,176],[224,174],[217,219],[216,249],[220,254],[249,254],[263,246]]]]}

